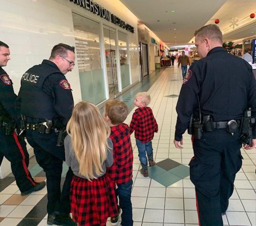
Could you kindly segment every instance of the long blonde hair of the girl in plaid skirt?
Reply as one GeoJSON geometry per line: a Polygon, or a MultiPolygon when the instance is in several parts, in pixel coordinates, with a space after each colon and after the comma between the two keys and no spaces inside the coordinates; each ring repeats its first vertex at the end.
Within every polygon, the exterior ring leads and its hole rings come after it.
{"type": "Polygon", "coordinates": [[[102,164],[107,159],[110,127],[99,109],[90,102],[79,102],[67,123],[67,133],[71,136],[79,162],[79,173],[88,180],[100,175],[103,172],[102,164]]]}

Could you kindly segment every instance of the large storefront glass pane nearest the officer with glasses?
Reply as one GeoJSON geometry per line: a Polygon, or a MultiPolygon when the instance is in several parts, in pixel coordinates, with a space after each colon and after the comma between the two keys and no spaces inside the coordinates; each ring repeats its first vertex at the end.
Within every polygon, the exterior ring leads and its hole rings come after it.
{"type": "Polygon", "coordinates": [[[73,23],[82,100],[99,104],[106,99],[99,47],[99,23],[75,13],[73,23]]]}

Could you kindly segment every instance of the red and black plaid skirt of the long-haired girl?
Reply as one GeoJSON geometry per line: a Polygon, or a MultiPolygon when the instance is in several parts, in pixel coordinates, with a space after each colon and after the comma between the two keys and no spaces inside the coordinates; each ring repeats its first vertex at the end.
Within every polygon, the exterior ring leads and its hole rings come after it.
{"type": "Polygon", "coordinates": [[[114,188],[106,175],[92,181],[74,175],[70,202],[73,220],[79,226],[105,226],[109,216],[118,215],[114,188]]]}

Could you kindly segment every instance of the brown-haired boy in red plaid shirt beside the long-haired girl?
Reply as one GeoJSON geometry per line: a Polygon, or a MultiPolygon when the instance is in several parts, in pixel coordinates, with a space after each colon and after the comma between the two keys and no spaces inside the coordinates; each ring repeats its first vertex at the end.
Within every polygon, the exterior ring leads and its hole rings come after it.
{"type": "MultiPolygon", "coordinates": [[[[122,226],[132,226],[132,164],[133,153],[130,139],[129,126],[123,123],[128,115],[127,105],[119,100],[109,100],[105,104],[104,115],[111,127],[109,136],[113,142],[112,167],[107,168],[107,176],[117,185],[116,197],[119,198],[119,206],[122,209],[122,226]]],[[[117,224],[118,215],[111,218],[112,225],[117,224]]]]}

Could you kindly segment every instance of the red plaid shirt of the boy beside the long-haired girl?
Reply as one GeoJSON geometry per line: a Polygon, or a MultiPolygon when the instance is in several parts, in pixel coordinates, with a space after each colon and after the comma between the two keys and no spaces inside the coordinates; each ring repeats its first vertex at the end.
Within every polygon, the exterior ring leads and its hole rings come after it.
{"type": "Polygon", "coordinates": [[[111,127],[109,136],[113,142],[114,163],[107,168],[107,175],[116,184],[124,184],[132,178],[133,153],[129,126],[125,123],[111,127]]]}

